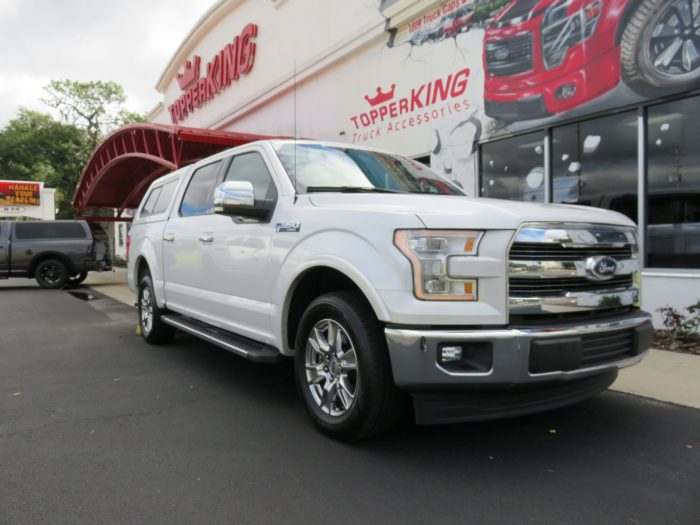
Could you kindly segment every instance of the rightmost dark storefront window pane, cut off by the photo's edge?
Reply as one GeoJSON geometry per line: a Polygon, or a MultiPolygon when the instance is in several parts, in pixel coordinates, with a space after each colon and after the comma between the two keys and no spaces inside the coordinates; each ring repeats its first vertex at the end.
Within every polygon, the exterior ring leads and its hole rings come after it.
{"type": "Polygon", "coordinates": [[[700,268],[700,97],[649,108],[647,266],[700,268]]]}

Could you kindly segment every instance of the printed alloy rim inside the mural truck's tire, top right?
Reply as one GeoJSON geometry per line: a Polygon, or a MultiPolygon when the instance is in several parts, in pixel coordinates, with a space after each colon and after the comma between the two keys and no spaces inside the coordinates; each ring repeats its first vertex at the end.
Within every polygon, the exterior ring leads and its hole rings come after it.
{"type": "Polygon", "coordinates": [[[654,68],[683,76],[700,67],[700,0],[672,0],[656,20],[647,49],[654,68]]]}

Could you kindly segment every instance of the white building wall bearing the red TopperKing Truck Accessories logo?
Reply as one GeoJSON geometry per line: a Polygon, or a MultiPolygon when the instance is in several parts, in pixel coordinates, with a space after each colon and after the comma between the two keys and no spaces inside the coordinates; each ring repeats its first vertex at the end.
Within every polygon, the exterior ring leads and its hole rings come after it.
{"type": "MultiPolygon", "coordinates": [[[[404,4],[425,10],[447,2],[404,4]]],[[[197,36],[183,44],[161,79],[164,104],[154,116],[157,122],[171,123],[167,107],[183,93],[176,73],[182,71],[184,61],[201,56],[205,75],[206,63],[246,24],[256,23],[252,71],[196,109],[182,125],[355,142],[414,157],[432,153],[432,165],[438,171],[476,194],[472,159],[476,128],[465,123],[473,116],[486,119],[480,67],[483,30],[421,46],[404,39],[402,45],[389,47],[391,37],[378,2],[248,0],[221,5],[219,18],[202,22],[208,31],[200,35],[194,31],[197,36]],[[230,9],[224,9],[226,5],[230,9]],[[428,85],[447,82],[467,67],[466,90],[451,93],[459,92],[457,96],[450,94],[445,100],[395,118],[387,115],[367,126],[358,118],[392,101],[412,100],[415,92],[425,99],[428,85]],[[365,96],[374,97],[378,87],[387,92],[392,85],[395,96],[386,104],[371,106],[365,100],[365,96]]],[[[402,27],[410,20],[406,18],[402,27]]]]}

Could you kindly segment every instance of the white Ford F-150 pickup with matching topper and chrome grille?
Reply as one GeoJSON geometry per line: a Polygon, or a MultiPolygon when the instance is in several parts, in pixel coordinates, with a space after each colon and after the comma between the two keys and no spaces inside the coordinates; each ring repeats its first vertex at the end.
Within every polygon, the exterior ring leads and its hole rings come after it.
{"type": "Polygon", "coordinates": [[[464,196],[411,159],[247,144],[155,181],[130,234],[149,343],[176,329],[294,358],[326,433],[563,406],[651,345],[635,227],[620,214],[464,196]]]}

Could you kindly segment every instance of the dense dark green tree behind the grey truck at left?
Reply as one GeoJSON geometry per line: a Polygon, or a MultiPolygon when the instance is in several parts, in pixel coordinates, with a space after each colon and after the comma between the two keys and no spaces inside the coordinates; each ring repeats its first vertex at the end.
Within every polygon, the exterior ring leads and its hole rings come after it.
{"type": "Polygon", "coordinates": [[[71,199],[91,151],[85,130],[22,108],[0,130],[0,179],[56,188],[57,217],[74,218],[71,199]]]}

